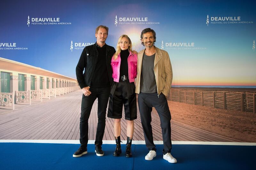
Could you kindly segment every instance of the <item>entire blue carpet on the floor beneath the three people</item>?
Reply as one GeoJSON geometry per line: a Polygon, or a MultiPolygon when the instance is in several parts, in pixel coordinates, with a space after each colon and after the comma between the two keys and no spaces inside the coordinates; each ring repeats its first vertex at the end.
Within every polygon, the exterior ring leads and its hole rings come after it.
{"type": "Polygon", "coordinates": [[[133,157],[113,157],[115,145],[102,146],[105,155],[97,157],[94,145],[79,158],[72,154],[79,144],[0,143],[0,169],[254,169],[256,146],[173,145],[172,155],[177,164],[163,159],[163,145],[156,145],[157,156],[144,159],[145,145],[132,145],[133,157]]]}

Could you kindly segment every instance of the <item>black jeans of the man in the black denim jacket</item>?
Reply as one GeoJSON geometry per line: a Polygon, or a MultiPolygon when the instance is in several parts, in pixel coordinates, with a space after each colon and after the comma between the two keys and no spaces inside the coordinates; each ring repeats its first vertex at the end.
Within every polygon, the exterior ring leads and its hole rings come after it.
{"type": "Polygon", "coordinates": [[[102,145],[102,139],[106,125],[106,110],[109,98],[109,88],[93,88],[89,89],[92,94],[84,96],[81,104],[81,117],[80,117],[80,143],[82,146],[87,147],[88,143],[88,120],[92,110],[92,105],[96,98],[98,98],[98,125],[96,131],[95,144],[102,145]]]}

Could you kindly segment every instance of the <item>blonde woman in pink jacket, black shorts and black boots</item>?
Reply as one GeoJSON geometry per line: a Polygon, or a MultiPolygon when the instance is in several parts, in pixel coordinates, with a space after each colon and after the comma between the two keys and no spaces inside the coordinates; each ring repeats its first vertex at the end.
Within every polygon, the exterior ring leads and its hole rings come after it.
{"type": "Polygon", "coordinates": [[[126,157],[132,156],[131,145],[134,132],[133,120],[137,119],[137,104],[134,80],[137,76],[137,54],[132,53],[132,42],[127,35],[121,35],[116,45],[116,53],[111,60],[114,83],[110,90],[108,117],[114,120],[116,150],[113,156],[121,151],[121,118],[124,104],[125,120],[127,120],[126,157]]]}

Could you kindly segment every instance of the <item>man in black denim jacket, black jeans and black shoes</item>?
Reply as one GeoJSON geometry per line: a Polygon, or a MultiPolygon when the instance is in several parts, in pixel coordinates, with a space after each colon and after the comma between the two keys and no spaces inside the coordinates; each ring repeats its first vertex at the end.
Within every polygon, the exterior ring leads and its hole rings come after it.
{"type": "Polygon", "coordinates": [[[80,148],[73,157],[80,157],[87,153],[88,119],[92,105],[98,98],[98,126],[95,140],[97,156],[103,156],[102,138],[106,124],[106,109],[113,83],[111,58],[116,52],[114,47],[105,43],[108,37],[108,27],[100,25],[96,28],[97,42],[84,48],[76,66],[76,78],[83,92],[80,117],[80,148]],[[84,71],[84,73],[83,73],[84,71]]]}

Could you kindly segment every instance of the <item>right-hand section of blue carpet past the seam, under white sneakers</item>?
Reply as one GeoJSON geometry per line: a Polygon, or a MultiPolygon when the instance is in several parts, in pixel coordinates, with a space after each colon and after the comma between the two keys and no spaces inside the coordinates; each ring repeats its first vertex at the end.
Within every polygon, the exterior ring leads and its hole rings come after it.
{"type": "Polygon", "coordinates": [[[156,157],[144,159],[145,145],[136,145],[133,169],[255,169],[256,146],[230,145],[172,145],[172,156],[177,159],[171,164],[163,159],[163,145],[156,145],[156,157]],[[254,168],[253,168],[254,167],[254,168]]]}

